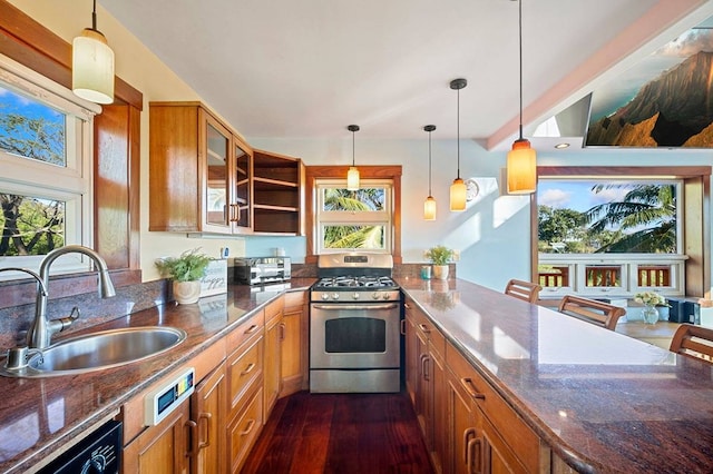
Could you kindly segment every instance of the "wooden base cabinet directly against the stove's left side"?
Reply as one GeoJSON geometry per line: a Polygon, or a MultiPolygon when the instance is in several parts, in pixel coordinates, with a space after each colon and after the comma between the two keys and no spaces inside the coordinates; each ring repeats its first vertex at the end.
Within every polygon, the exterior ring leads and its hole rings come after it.
{"type": "Polygon", "coordinates": [[[281,342],[282,383],[280,396],[292,395],[307,388],[307,292],[287,292],[284,295],[281,342]]]}

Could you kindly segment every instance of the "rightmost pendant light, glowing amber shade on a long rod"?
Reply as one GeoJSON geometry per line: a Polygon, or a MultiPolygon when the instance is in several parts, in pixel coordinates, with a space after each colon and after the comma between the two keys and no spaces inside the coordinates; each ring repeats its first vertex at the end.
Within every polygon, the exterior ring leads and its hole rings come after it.
{"type": "Polygon", "coordinates": [[[519,6],[519,45],[520,45],[520,138],[515,140],[508,152],[507,175],[508,194],[527,195],[537,187],[537,152],[529,140],[522,138],[522,0],[519,6]]]}

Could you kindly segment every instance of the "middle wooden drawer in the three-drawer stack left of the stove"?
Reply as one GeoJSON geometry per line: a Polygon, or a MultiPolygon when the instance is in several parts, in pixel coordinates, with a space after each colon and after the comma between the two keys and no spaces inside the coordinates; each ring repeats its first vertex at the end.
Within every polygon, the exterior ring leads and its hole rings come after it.
{"type": "Polygon", "coordinates": [[[227,388],[231,401],[229,415],[240,409],[241,397],[253,384],[262,383],[263,337],[260,336],[245,348],[236,350],[227,358],[227,388]]]}

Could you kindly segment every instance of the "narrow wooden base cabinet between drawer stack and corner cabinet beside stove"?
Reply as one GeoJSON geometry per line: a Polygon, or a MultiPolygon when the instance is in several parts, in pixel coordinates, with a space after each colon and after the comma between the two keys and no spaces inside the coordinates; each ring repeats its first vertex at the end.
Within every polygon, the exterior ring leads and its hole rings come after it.
{"type": "Polygon", "coordinates": [[[272,412],[282,382],[282,310],[284,299],[280,297],[265,307],[265,376],[263,378],[264,418],[272,412]]]}

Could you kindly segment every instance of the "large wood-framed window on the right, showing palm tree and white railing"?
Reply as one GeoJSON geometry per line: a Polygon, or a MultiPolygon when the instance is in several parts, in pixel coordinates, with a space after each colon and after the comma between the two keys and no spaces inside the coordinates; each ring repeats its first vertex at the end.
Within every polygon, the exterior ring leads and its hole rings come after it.
{"type": "Polygon", "coordinates": [[[540,296],[704,294],[709,274],[697,261],[707,258],[702,210],[710,171],[539,167],[533,277],[544,287],[540,296]]]}

